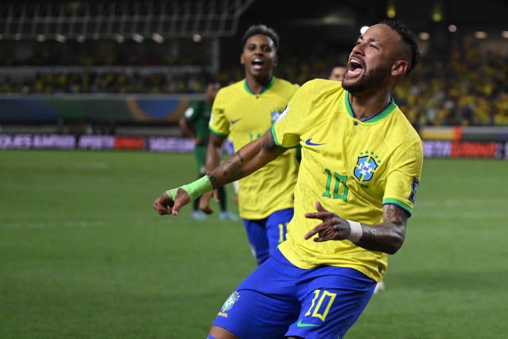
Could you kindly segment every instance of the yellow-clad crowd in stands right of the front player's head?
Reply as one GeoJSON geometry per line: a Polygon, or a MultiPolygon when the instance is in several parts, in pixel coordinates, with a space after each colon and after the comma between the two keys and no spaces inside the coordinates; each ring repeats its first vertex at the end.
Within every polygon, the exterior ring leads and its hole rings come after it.
{"type": "Polygon", "coordinates": [[[465,44],[446,63],[424,60],[394,97],[415,125],[508,126],[508,54],[465,44]]]}

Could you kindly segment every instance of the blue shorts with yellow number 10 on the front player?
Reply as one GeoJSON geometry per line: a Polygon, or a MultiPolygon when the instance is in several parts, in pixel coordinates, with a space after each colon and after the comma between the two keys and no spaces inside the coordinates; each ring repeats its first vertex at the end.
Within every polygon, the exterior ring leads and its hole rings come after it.
{"type": "Polygon", "coordinates": [[[351,268],[298,268],[277,250],[230,295],[213,325],[241,339],[341,339],[375,285],[351,268]]]}

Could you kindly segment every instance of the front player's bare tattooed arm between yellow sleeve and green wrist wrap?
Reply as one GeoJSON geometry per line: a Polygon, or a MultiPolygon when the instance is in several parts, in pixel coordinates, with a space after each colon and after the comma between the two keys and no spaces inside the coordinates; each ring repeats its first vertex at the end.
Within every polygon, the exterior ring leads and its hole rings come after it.
{"type": "Polygon", "coordinates": [[[224,164],[212,170],[208,177],[216,189],[256,172],[285,151],[286,149],[275,145],[272,133],[268,131],[258,140],[240,148],[224,164]]]}

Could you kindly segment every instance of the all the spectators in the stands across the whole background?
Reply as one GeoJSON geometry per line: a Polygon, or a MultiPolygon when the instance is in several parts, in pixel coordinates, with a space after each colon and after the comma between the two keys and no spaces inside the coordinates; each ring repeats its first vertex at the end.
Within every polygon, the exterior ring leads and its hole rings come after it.
{"type": "MultiPolygon", "coordinates": [[[[508,53],[480,52],[464,43],[449,58],[427,55],[394,93],[415,125],[508,126],[508,53]]],[[[344,60],[346,61],[346,60],[344,60]]],[[[327,78],[336,57],[283,59],[276,75],[302,84],[327,78]]],[[[48,73],[31,79],[4,78],[0,93],[202,93],[210,75],[170,73],[48,73]]],[[[240,66],[220,71],[218,81],[243,78],[240,66]]]]}

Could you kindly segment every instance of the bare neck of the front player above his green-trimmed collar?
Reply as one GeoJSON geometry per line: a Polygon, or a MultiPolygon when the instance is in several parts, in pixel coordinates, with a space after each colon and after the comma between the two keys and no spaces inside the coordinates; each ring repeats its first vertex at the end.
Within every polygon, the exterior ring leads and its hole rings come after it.
{"type": "Polygon", "coordinates": [[[382,111],[390,103],[390,91],[372,91],[355,95],[350,93],[349,100],[356,118],[363,121],[382,111]]]}

